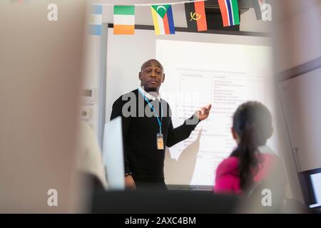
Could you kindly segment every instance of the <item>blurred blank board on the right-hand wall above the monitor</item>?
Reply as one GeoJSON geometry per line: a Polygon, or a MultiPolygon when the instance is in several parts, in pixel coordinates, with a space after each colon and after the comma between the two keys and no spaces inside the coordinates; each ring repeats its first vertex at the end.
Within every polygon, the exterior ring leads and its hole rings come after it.
{"type": "Polygon", "coordinates": [[[321,68],[279,83],[290,144],[302,172],[321,167],[321,68]]]}

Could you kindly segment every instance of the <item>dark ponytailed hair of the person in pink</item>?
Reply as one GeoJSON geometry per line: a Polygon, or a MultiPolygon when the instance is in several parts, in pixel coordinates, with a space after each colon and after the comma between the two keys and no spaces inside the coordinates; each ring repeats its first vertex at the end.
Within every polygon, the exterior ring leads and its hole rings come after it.
{"type": "Polygon", "coordinates": [[[231,156],[238,157],[240,187],[248,190],[253,185],[253,172],[258,172],[258,147],[265,145],[272,135],[272,116],[262,103],[250,101],[240,105],[233,115],[233,129],[240,142],[231,156]]]}

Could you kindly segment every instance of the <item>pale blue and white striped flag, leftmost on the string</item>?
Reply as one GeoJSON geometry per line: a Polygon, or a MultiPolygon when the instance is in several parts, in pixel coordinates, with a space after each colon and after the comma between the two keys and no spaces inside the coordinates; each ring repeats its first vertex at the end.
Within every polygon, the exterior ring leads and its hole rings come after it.
{"type": "Polygon", "coordinates": [[[90,34],[94,36],[101,36],[101,29],[103,23],[103,6],[92,5],[91,14],[89,16],[90,34]]]}

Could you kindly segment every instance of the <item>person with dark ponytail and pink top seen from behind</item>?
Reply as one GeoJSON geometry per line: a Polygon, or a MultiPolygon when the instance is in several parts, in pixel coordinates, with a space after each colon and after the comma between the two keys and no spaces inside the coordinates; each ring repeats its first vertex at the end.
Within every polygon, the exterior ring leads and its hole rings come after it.
{"type": "Polygon", "coordinates": [[[238,146],[218,165],[215,193],[241,194],[268,175],[276,161],[272,150],[265,145],[272,132],[272,116],[265,105],[250,101],[238,107],[232,127],[238,146]]]}

